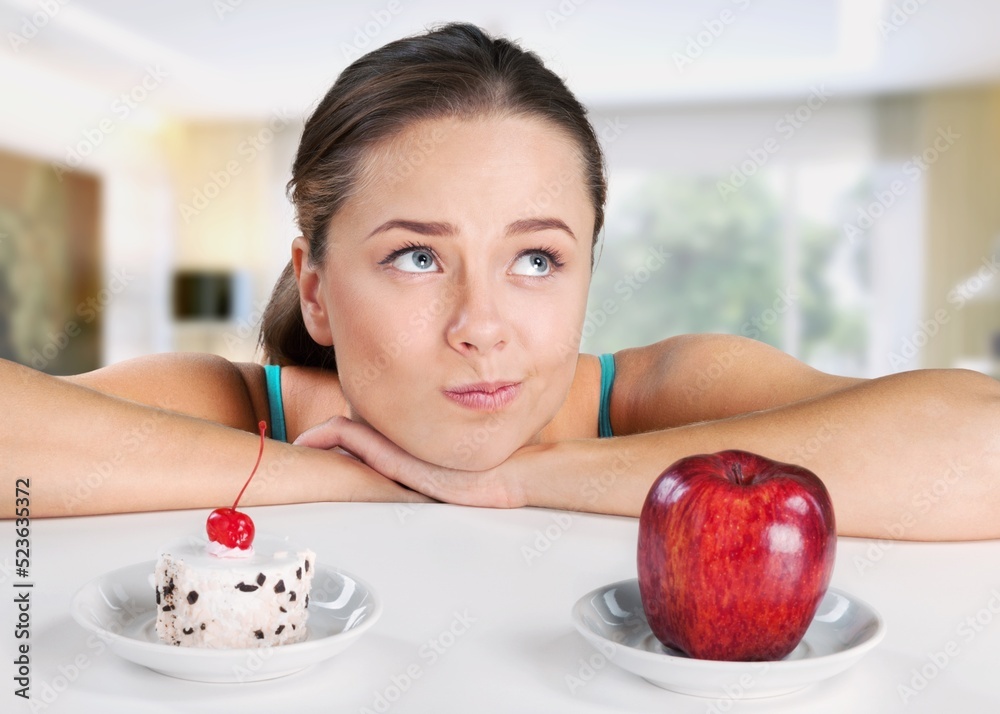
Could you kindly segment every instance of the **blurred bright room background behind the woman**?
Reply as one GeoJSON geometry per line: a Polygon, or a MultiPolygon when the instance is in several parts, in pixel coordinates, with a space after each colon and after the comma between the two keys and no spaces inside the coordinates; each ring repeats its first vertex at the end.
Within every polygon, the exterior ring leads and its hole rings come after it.
{"type": "Polygon", "coordinates": [[[304,118],[452,20],[592,112],[584,351],[714,331],[841,374],[1000,376],[995,0],[0,0],[0,357],[255,359],[304,118]]]}

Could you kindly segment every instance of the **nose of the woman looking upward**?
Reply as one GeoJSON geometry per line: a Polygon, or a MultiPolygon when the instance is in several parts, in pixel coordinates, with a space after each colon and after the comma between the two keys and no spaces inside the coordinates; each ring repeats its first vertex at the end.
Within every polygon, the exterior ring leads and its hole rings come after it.
{"type": "Polygon", "coordinates": [[[454,304],[447,326],[448,344],[463,355],[487,354],[502,348],[508,325],[487,280],[465,280],[452,290],[454,304]]]}

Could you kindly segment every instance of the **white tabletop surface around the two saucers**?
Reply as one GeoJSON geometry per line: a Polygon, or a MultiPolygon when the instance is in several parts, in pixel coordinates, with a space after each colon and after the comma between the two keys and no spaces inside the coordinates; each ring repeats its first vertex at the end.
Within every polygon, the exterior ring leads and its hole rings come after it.
{"type": "MultiPolygon", "coordinates": [[[[259,532],[289,535],[311,547],[320,563],[367,580],[384,600],[381,619],[341,654],[284,678],[244,684],[172,679],[98,650],[88,640],[92,636],[71,619],[70,600],[91,578],[151,560],[161,543],[200,532],[207,512],[33,520],[33,710],[1000,709],[1000,541],[840,539],[832,585],[882,613],[888,624],[885,639],[860,664],[830,680],[784,697],[734,701],[722,692],[718,700],[675,694],[613,663],[588,667],[588,661],[601,664],[601,658],[592,657],[596,651],[573,628],[570,609],[588,591],[636,576],[636,519],[437,504],[307,504],[247,511],[259,532]],[[926,676],[918,676],[921,671],[926,676]],[[407,672],[419,677],[407,684],[407,672]],[[386,694],[394,701],[388,702],[386,694]]],[[[5,522],[0,637],[8,674],[2,678],[0,710],[31,711],[13,695],[12,660],[20,642],[14,636],[13,586],[21,581],[12,568],[13,531],[14,524],[5,522]]]]}

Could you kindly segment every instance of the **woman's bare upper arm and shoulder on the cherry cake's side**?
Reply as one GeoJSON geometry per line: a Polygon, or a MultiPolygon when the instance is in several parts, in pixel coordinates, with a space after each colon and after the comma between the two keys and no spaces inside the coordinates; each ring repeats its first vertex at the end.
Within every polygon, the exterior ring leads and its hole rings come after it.
{"type": "Polygon", "coordinates": [[[104,394],[256,431],[266,418],[263,368],[197,353],[145,355],[63,377],[104,394]]]}

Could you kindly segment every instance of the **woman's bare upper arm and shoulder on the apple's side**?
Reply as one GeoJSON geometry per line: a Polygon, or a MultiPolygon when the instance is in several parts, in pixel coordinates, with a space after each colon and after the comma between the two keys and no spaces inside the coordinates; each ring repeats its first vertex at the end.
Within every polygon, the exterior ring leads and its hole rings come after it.
{"type": "Polygon", "coordinates": [[[861,381],[813,369],[757,340],[680,335],[615,354],[616,434],[667,429],[790,404],[861,381]]]}

